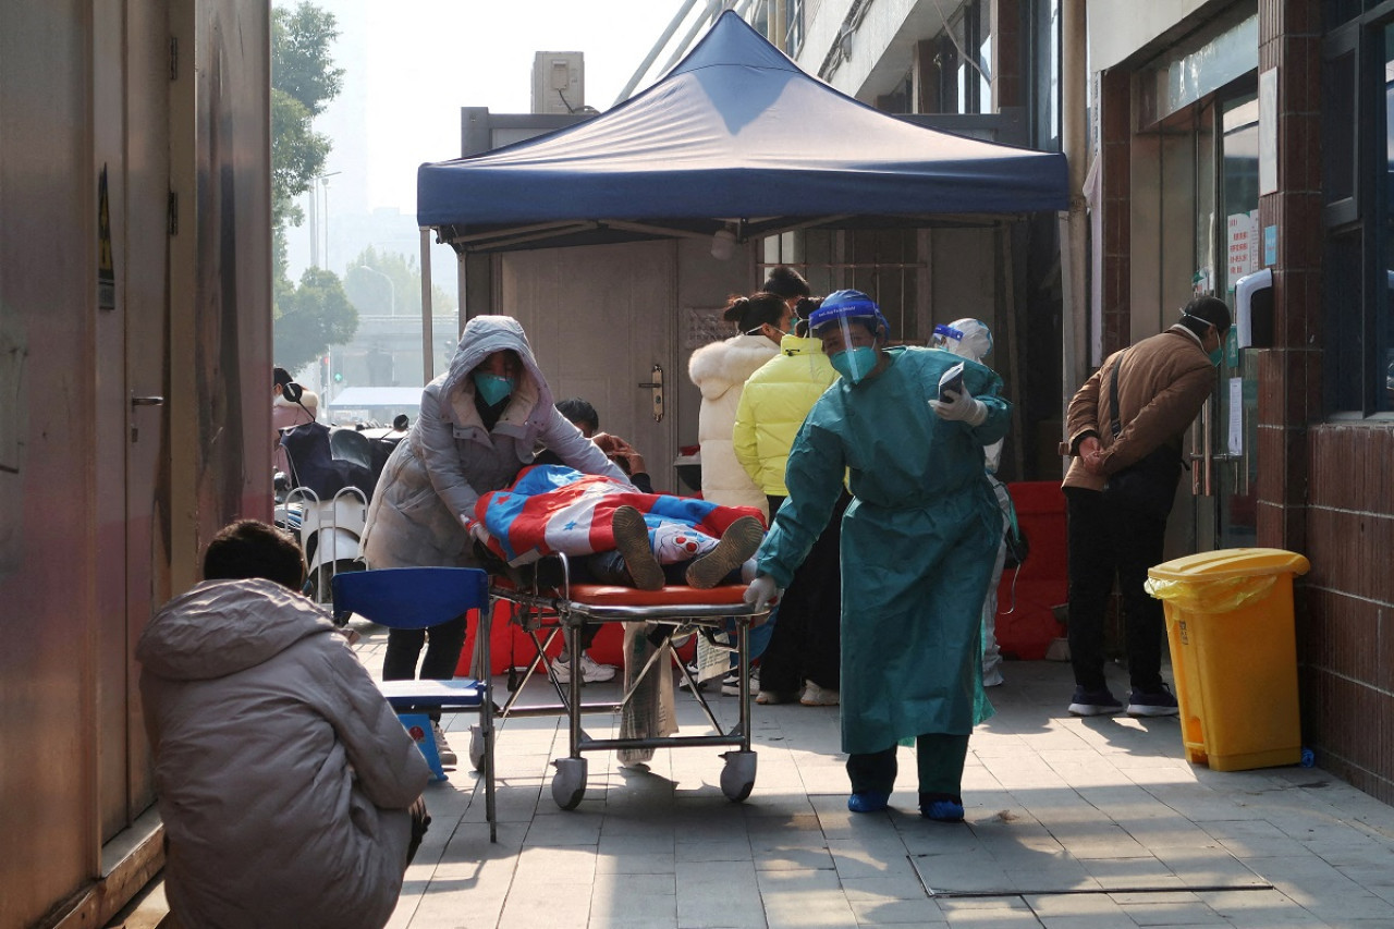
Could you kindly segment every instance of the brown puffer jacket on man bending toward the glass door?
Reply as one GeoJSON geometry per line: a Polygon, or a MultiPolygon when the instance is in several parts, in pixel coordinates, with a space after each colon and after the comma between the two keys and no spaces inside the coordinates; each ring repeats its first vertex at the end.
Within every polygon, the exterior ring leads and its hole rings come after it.
{"type": "Polygon", "coordinates": [[[1175,325],[1115,352],[1075,392],[1066,411],[1066,434],[1061,455],[1076,456],[1065,474],[1065,487],[1103,490],[1110,474],[1136,464],[1167,444],[1181,451],[1186,427],[1200,413],[1216,385],[1216,368],[1200,347],[1200,339],[1175,325]],[[1122,361],[1118,379],[1118,438],[1112,432],[1112,399],[1108,378],[1122,361]],[[1103,474],[1090,474],[1078,458],[1079,442],[1096,435],[1103,446],[1103,474]]]}

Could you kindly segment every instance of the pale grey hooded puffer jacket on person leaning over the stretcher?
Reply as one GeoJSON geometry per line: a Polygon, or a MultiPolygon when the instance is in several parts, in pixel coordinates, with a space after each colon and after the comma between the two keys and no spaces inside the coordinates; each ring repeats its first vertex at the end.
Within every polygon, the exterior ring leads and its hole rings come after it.
{"type": "Polygon", "coordinates": [[[502,490],[533,463],[538,448],[587,474],[625,473],[552,405],[523,326],[512,317],[475,317],[460,333],[450,370],[421,392],[421,413],[378,478],[364,529],[362,554],[372,568],[473,565],[463,515],[474,501],[502,490]],[[489,354],[512,349],[523,377],[492,431],[474,406],[470,372],[489,354]]]}

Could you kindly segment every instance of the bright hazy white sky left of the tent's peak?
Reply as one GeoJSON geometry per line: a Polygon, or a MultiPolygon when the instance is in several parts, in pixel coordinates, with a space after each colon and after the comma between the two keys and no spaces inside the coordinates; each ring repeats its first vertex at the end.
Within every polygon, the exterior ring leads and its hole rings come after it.
{"type": "MultiPolygon", "coordinates": [[[[294,6],[276,0],[276,6],[294,6]]],[[[460,155],[460,107],[531,109],[535,52],[585,53],[585,102],[609,109],[682,0],[316,0],[333,13],[342,95],[316,120],[335,142],[333,212],[415,212],[421,162],[460,155]]],[[[698,3],[704,7],[705,3],[698,3]]],[[[691,18],[689,20],[691,21],[691,18]]],[[[677,36],[686,32],[679,29],[677,36]]],[[[666,53],[658,59],[658,68],[666,53]]],[[[641,89],[641,88],[640,88],[641,89]]]]}

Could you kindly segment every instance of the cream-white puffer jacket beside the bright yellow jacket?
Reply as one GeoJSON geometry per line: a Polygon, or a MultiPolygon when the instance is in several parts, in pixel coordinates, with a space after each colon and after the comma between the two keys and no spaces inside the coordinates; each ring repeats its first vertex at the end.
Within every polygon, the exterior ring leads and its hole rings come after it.
{"type": "Polygon", "coordinates": [[[736,460],[732,434],[746,379],[779,353],[763,335],[737,335],[693,352],[687,377],[701,391],[697,442],[701,445],[701,495],[722,506],[754,506],[769,515],[765,495],[736,460]]]}

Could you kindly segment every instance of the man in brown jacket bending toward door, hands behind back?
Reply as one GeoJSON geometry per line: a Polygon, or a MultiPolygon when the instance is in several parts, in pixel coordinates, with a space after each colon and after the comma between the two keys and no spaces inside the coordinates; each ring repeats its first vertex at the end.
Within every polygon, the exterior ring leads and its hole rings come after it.
{"type": "Polygon", "coordinates": [[[1075,716],[1118,713],[1104,681],[1104,610],[1122,593],[1131,716],[1175,716],[1161,679],[1163,608],[1143,590],[1163,559],[1186,427],[1216,385],[1230,308],[1196,297],[1181,321],[1111,354],[1069,402],[1065,476],[1069,545],[1069,654],[1075,716]]]}

